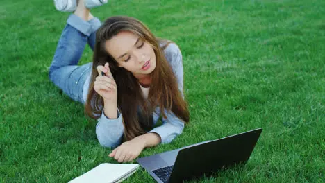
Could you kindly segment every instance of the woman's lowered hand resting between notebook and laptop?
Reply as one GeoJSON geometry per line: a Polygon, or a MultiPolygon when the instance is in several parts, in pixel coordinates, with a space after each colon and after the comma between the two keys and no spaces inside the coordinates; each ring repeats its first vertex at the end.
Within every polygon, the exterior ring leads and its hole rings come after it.
{"type": "Polygon", "coordinates": [[[108,156],[114,157],[118,162],[131,162],[140,155],[145,146],[143,139],[135,137],[131,141],[122,143],[108,156]]]}

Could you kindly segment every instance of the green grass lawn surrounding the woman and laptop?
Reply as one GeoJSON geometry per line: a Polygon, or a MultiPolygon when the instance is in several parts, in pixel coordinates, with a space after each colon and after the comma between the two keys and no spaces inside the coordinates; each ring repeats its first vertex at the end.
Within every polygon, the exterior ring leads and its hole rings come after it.
{"type": "MultiPolygon", "coordinates": [[[[183,53],[191,121],[140,157],[262,127],[251,159],[192,182],[324,182],[325,1],[116,1],[183,53]]],[[[67,182],[103,162],[95,121],[48,78],[68,13],[53,1],[0,6],[0,182],[67,182]]],[[[81,64],[90,62],[85,50],[81,64]]],[[[222,149],[221,149],[222,150],[222,149]]],[[[199,157],[198,157],[199,158],[199,157]]],[[[154,182],[143,169],[125,182],[154,182]]]]}

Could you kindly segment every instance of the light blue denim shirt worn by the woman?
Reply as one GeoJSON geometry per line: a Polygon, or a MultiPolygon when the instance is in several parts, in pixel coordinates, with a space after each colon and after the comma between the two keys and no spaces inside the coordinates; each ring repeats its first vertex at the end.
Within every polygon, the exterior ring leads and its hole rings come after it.
{"type": "MultiPolygon", "coordinates": [[[[172,70],[177,78],[178,89],[183,95],[183,58],[178,46],[170,43],[164,50],[167,62],[172,66],[172,70]]],[[[157,107],[153,113],[153,125],[160,117],[160,108],[157,107]]],[[[117,119],[108,119],[102,112],[96,125],[97,139],[101,146],[115,148],[122,143],[124,134],[124,125],[122,123],[122,114],[118,110],[117,119]]],[[[155,132],[161,138],[161,143],[169,143],[183,132],[184,123],[181,119],[165,110],[166,118],[162,119],[163,124],[153,128],[149,132],[155,132]]]]}

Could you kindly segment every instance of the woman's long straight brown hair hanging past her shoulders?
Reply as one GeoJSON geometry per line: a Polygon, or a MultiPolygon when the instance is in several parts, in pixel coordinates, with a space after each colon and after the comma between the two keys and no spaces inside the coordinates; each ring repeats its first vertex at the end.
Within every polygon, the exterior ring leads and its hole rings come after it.
{"type": "Polygon", "coordinates": [[[190,114],[188,105],[178,89],[176,77],[172,67],[167,62],[163,49],[159,44],[168,42],[155,37],[142,22],[133,17],[110,17],[103,22],[97,30],[96,44],[92,64],[92,76],[88,98],[85,103],[85,113],[92,119],[98,119],[103,111],[103,98],[94,91],[94,81],[98,76],[97,66],[110,65],[110,71],[117,84],[117,106],[123,117],[124,139],[131,140],[146,133],[151,122],[149,119],[156,107],[160,107],[160,114],[166,117],[167,112],[173,112],[183,122],[188,123],[190,114]],[[116,60],[105,49],[106,40],[110,40],[120,31],[129,31],[140,36],[145,42],[153,47],[156,54],[156,68],[151,74],[151,84],[147,100],[142,96],[139,81],[133,73],[123,67],[118,67],[116,60]],[[140,111],[140,118],[138,112],[140,111]]]}

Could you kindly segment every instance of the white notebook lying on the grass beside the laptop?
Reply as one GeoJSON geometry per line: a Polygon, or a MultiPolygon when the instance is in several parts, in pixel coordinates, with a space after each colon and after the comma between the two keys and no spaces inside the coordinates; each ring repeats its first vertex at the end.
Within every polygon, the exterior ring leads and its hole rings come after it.
{"type": "Polygon", "coordinates": [[[122,180],[135,173],[139,166],[138,164],[100,164],[87,173],[69,181],[69,183],[122,182],[122,180]]]}

